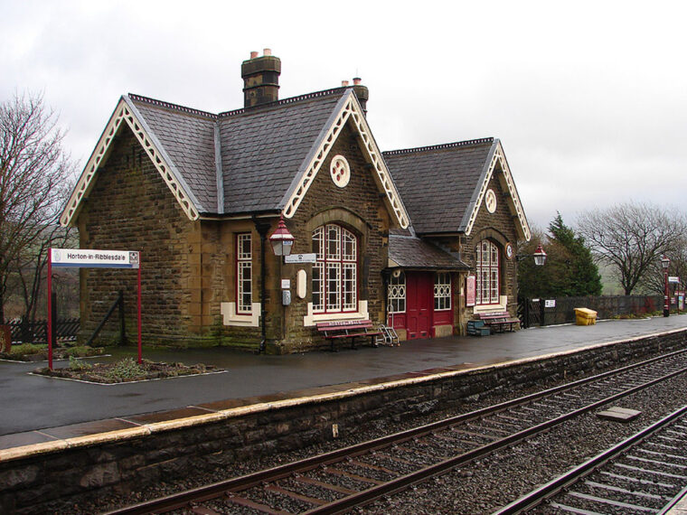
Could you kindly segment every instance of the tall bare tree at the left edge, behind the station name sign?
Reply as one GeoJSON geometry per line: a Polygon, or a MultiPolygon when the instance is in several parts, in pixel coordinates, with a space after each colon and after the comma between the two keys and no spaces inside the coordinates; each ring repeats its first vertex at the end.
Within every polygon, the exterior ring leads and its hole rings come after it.
{"type": "Polygon", "coordinates": [[[59,218],[74,170],[63,136],[42,96],[0,104],[0,321],[13,263],[59,218]]]}

